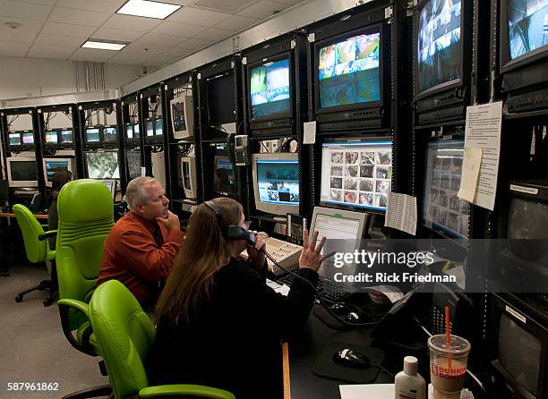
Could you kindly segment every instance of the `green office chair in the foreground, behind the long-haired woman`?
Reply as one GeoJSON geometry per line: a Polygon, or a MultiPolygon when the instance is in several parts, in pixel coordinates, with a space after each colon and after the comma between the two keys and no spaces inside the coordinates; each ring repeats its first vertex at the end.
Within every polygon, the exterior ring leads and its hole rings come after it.
{"type": "Polygon", "coordinates": [[[154,327],[124,284],[100,284],[90,301],[91,326],[107,366],[115,399],[160,396],[235,399],[222,389],[196,385],[149,386],[143,359],[154,342],[154,327]]]}

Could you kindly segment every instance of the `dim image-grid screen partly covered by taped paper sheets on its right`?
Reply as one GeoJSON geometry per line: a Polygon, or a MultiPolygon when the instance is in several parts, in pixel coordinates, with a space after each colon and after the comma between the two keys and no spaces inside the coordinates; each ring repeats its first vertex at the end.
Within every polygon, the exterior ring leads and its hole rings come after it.
{"type": "Polygon", "coordinates": [[[469,203],[458,198],[464,141],[432,142],[428,146],[424,189],[424,224],[460,238],[468,235],[469,203]]]}

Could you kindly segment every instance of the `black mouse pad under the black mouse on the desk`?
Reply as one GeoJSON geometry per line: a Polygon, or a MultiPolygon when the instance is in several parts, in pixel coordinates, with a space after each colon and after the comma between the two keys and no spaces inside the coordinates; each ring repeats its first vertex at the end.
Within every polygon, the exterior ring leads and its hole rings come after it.
{"type": "Polygon", "coordinates": [[[355,384],[372,383],[379,374],[378,367],[370,366],[366,369],[356,369],[333,361],[335,352],[342,351],[345,348],[363,353],[369,358],[371,364],[381,364],[384,360],[384,352],[378,348],[357,344],[332,343],[325,351],[321,352],[321,355],[314,362],[313,373],[319,377],[333,378],[355,384]]]}

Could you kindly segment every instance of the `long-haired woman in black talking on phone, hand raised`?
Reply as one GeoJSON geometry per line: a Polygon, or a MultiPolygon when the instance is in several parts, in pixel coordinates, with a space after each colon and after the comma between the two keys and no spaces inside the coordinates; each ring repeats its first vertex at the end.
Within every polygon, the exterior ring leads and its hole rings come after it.
{"type": "Polygon", "coordinates": [[[309,243],[304,231],[297,272],[302,280],[295,278],[285,297],[266,284],[261,237],[255,234],[254,245],[228,238],[228,225],[247,228],[235,200],[207,201],[193,212],[158,300],[147,375],[151,385],[201,384],[238,399],[279,398],[281,340],[298,332],[313,308],[325,237],[316,247],[318,233],[309,243]],[[248,261],[239,256],[245,249],[248,261]]]}

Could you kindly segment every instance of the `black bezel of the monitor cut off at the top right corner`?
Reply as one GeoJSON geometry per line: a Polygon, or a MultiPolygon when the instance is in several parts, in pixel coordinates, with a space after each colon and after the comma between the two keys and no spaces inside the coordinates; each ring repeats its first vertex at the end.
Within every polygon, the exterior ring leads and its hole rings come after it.
{"type": "Polygon", "coordinates": [[[535,62],[548,57],[548,45],[544,45],[543,47],[539,47],[526,55],[520,55],[513,60],[510,59],[508,7],[509,0],[501,0],[501,19],[499,20],[501,32],[499,38],[499,62],[501,73],[517,70],[518,68],[525,67],[529,64],[534,64],[535,62]]]}

